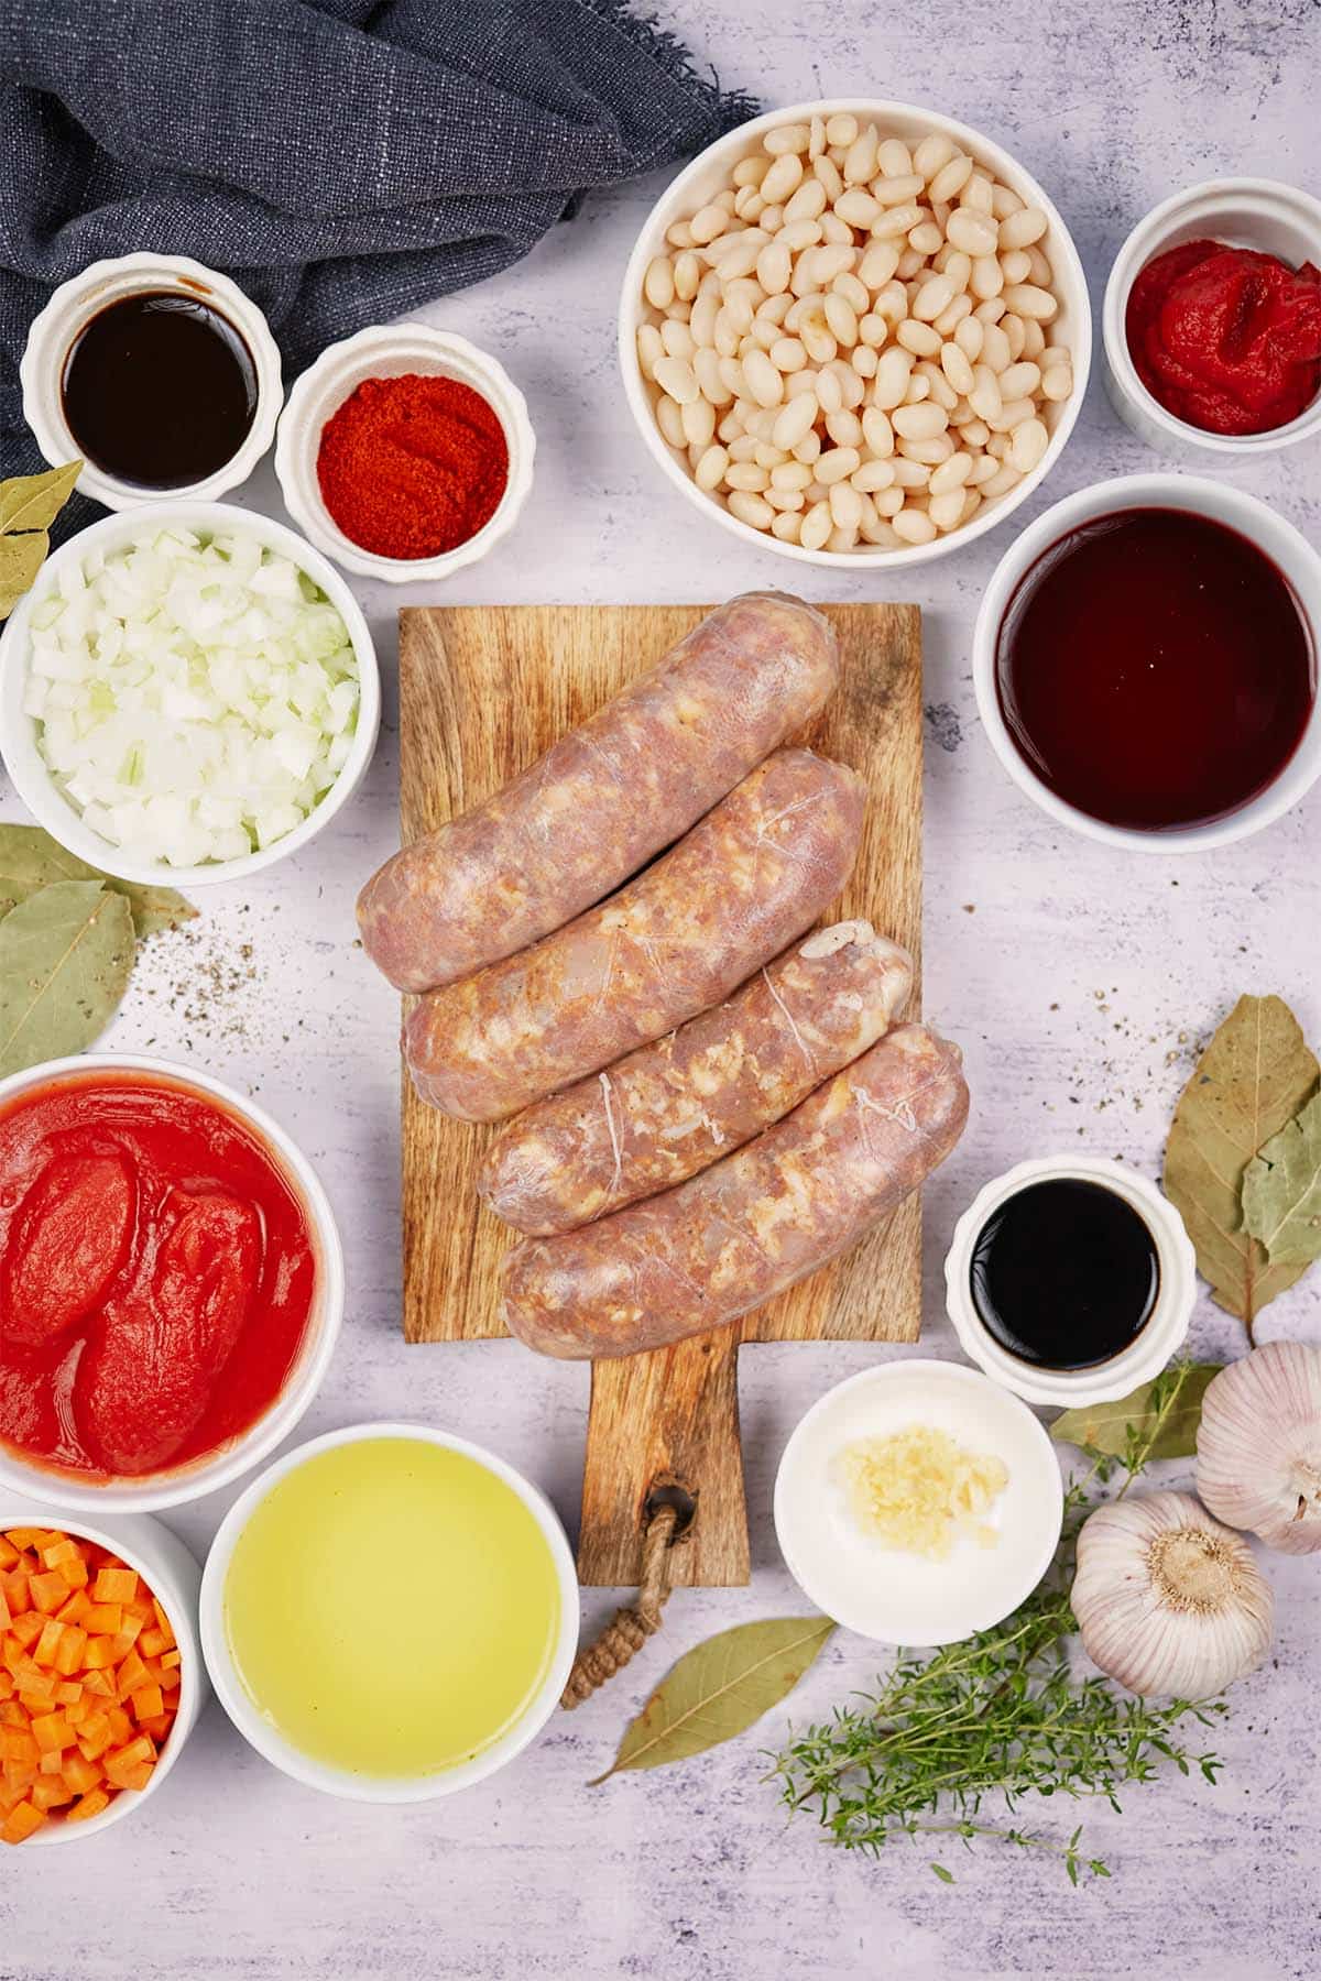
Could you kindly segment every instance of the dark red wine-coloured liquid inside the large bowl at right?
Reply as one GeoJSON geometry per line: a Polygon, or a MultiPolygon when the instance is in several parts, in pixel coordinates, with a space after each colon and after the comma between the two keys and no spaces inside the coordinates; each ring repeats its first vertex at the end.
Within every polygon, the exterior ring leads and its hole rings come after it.
{"type": "Polygon", "coordinates": [[[1317,693],[1281,571],[1236,529],[1121,509],[1060,537],[996,640],[1000,711],[1066,804],[1109,826],[1208,824],[1275,782],[1317,693]]]}

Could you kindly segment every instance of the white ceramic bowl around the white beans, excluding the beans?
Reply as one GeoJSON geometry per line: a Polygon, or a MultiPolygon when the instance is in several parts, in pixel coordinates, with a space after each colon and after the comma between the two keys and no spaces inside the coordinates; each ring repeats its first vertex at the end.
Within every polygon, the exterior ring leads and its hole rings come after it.
{"type": "Polygon", "coordinates": [[[638,422],[644,446],[652,460],[658,462],[667,481],[671,481],[673,487],[677,487],[707,519],[721,523],[753,549],[772,551],[776,557],[792,557],[800,565],[828,565],[834,571],[899,571],[905,565],[925,565],[933,557],[947,557],[951,551],[963,549],[963,545],[972,543],[976,537],[984,537],[988,529],[1004,523],[1004,519],[1010,517],[1014,509],[1040,487],[1044,477],[1056,466],[1060,454],[1064,452],[1064,444],[1073,432],[1073,422],[1077,420],[1083,392],[1087,390],[1087,372],[1091,366],[1091,305],[1087,301],[1087,281],[1083,277],[1083,265],[1077,258],[1077,248],[1073,246],[1073,236],[1036,178],[1032,178],[1032,174],[1026,172],[1006,151],[994,145],[980,131],[972,131],[968,125],[957,123],[953,117],[943,117],[939,111],[921,109],[913,103],[893,103],[883,97],[830,97],[820,103],[790,103],[786,109],[768,111],[764,117],[753,117],[751,123],[739,125],[737,131],[729,131],[727,137],[717,139],[715,145],[709,145],[703,153],[699,153],[697,158],[693,158],[693,162],[685,166],[665,188],[648,214],[642,234],[638,236],[638,244],[628,260],[628,267],[624,269],[618,341],[624,394],[628,398],[630,412],[638,422]],[[1050,256],[1056,277],[1056,295],[1060,299],[1060,313],[1050,325],[1050,333],[1052,339],[1067,343],[1073,353],[1073,392],[1064,404],[1048,406],[1044,418],[1050,424],[1050,446],[1032,473],[1024,475],[1018,487],[1010,489],[1010,493],[1000,497],[1000,501],[984,503],[972,521],[963,529],[953,529],[949,535],[937,537],[935,543],[909,545],[901,551],[875,547],[864,547],[860,551],[804,551],[798,543],[780,543],[780,539],[772,537],[770,531],[753,529],[751,523],[741,523],[739,517],[731,515],[723,503],[703,495],[687,466],[681,466],[671,454],[656,424],[652,388],[642,376],[642,368],[638,365],[638,325],[644,321],[642,277],[648,261],[652,261],[652,258],[665,246],[665,228],[673,226],[675,220],[691,218],[691,214],[695,214],[705,200],[721,192],[729,184],[729,174],[735,164],[751,153],[761,151],[761,141],[766,131],[776,131],[786,123],[806,123],[812,117],[834,117],[840,113],[852,113],[858,119],[875,123],[881,127],[881,135],[901,137],[909,145],[915,145],[933,131],[943,131],[959,145],[961,151],[966,151],[980,164],[990,166],[994,176],[1016,192],[1026,204],[1040,206],[1046,212],[1050,228],[1040,242],[1040,248],[1050,256]]]}

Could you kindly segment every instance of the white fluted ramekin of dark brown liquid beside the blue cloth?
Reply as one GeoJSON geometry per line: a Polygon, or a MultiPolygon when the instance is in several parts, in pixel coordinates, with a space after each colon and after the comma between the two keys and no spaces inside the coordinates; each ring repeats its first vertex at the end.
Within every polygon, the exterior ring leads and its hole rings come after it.
{"type": "Polygon", "coordinates": [[[109,509],[214,499],[271,446],[279,351],[238,283],[186,256],[93,261],[28,333],[24,418],[109,509]]]}

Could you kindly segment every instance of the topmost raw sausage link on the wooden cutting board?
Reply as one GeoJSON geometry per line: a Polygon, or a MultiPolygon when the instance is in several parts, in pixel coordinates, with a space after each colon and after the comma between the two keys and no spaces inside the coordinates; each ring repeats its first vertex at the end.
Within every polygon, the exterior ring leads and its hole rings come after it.
{"type": "Polygon", "coordinates": [[[687,832],[838,678],[812,606],[731,598],[513,784],[386,860],[358,897],[362,947],[400,990],[511,957],[687,832]]]}

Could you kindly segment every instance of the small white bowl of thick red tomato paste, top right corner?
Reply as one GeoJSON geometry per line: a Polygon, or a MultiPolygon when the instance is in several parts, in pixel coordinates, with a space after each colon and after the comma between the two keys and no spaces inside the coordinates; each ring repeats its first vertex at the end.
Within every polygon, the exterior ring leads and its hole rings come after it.
{"type": "Polygon", "coordinates": [[[1165,456],[1273,454],[1321,434],[1321,202],[1270,178],[1163,200],[1115,258],[1105,388],[1165,456]]]}

